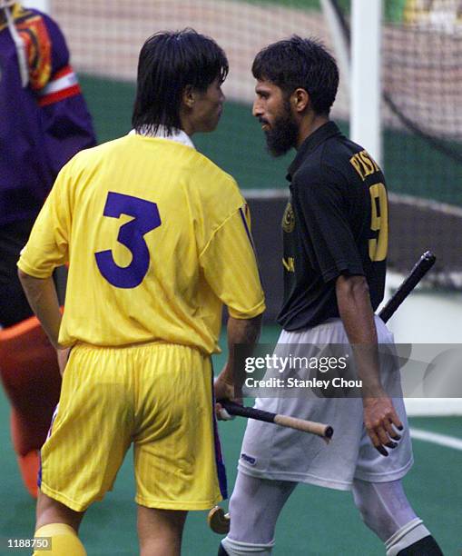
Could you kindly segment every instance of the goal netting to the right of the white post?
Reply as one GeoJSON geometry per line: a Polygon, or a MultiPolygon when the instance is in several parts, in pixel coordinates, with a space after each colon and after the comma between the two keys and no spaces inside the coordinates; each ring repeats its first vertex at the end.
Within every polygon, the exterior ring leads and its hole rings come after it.
{"type": "MultiPolygon", "coordinates": [[[[336,2],[349,36],[349,5],[336,2]]],[[[462,286],[462,2],[386,2],[382,27],[384,166],[389,262],[406,272],[437,254],[432,279],[462,286]],[[393,9],[391,9],[393,8],[393,9]]]]}

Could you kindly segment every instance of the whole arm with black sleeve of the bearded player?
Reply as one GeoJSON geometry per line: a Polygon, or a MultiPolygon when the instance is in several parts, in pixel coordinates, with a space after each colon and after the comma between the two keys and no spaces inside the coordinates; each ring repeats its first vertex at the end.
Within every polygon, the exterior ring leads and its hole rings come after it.
{"type": "MultiPolygon", "coordinates": [[[[300,223],[307,233],[306,251],[325,283],[335,281],[339,315],[351,343],[363,381],[364,422],[374,446],[388,455],[384,446],[398,434],[392,424],[401,426],[391,400],[380,382],[378,339],[369,286],[349,224],[348,190],[341,174],[324,168],[319,184],[292,188],[292,197],[300,207],[300,223]]],[[[316,178],[316,176],[315,176],[316,178]]],[[[306,182],[306,180],[305,180],[306,182]]],[[[296,215],[297,217],[297,215],[296,215]]]]}

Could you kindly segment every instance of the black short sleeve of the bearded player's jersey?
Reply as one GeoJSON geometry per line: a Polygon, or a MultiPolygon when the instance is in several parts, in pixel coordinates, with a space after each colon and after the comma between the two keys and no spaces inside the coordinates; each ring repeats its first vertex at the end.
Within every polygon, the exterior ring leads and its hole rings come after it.
{"type": "Polygon", "coordinates": [[[364,275],[353,232],[349,204],[334,180],[318,183],[299,179],[292,185],[295,218],[301,223],[302,242],[310,264],[325,283],[340,274],[364,275]]]}

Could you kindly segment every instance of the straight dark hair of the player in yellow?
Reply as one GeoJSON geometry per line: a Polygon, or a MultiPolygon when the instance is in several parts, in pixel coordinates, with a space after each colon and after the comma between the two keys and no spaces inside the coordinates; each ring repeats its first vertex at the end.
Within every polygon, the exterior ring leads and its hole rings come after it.
{"type": "Polygon", "coordinates": [[[144,43],[138,62],[134,129],[143,126],[156,132],[160,125],[167,133],[181,127],[180,107],[187,85],[205,91],[228,74],[228,60],[221,47],[193,29],[162,31],[144,43]]]}

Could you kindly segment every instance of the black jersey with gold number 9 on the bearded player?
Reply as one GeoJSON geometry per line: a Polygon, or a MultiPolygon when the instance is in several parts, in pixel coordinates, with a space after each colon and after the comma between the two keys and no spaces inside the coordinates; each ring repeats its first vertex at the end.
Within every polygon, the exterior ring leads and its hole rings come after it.
{"type": "Polygon", "coordinates": [[[388,198],[378,164],[328,122],[301,144],[287,179],[278,322],[293,331],[339,317],[340,274],[366,277],[375,311],[383,299],[388,249],[388,198]]]}

